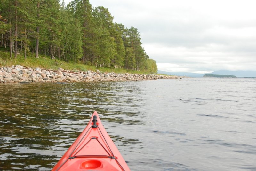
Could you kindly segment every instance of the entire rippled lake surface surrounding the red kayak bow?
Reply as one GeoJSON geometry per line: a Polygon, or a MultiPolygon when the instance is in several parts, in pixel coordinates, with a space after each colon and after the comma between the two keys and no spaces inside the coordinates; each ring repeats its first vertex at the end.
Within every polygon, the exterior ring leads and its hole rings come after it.
{"type": "Polygon", "coordinates": [[[96,110],[131,170],[256,170],[256,79],[0,84],[0,170],[51,170],[96,110]]]}

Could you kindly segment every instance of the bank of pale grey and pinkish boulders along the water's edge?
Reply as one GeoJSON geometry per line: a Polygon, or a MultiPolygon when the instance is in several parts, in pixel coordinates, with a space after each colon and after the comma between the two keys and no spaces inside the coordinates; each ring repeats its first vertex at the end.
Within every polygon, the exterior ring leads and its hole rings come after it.
{"type": "Polygon", "coordinates": [[[156,79],[178,79],[177,76],[155,74],[116,74],[86,71],[73,72],[62,68],[48,70],[42,68],[25,68],[21,65],[0,68],[0,83],[32,82],[90,82],[90,81],[137,81],[156,79]]]}

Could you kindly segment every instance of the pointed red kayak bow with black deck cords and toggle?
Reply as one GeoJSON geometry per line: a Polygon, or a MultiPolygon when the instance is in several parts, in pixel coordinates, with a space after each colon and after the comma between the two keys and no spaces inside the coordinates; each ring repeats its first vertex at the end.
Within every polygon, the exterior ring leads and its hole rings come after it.
{"type": "Polygon", "coordinates": [[[91,120],[52,171],[129,171],[95,111],[91,120]]]}

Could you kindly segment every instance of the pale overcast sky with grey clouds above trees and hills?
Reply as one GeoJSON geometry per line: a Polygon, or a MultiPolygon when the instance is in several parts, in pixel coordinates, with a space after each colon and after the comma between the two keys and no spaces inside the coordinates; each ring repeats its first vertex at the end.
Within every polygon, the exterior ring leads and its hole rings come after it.
{"type": "MultiPolygon", "coordinates": [[[[69,0],[65,0],[69,2],[69,0]]],[[[255,0],[90,0],[136,27],[158,70],[256,71],[255,0]]]]}

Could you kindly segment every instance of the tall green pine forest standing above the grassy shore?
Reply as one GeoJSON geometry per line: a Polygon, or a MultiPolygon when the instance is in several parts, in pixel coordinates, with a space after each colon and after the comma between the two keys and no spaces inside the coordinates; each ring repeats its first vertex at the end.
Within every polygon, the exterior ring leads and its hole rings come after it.
{"type": "Polygon", "coordinates": [[[140,33],[113,23],[103,6],[89,0],[0,0],[0,47],[18,54],[50,56],[96,67],[157,73],[142,47],[140,33]]]}

